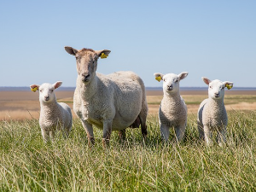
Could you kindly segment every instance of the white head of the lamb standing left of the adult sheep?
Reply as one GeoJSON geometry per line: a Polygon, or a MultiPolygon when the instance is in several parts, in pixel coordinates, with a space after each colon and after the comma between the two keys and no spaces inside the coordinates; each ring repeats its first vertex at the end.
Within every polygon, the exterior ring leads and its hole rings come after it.
{"type": "Polygon", "coordinates": [[[30,85],[30,88],[34,90],[39,90],[39,101],[40,102],[53,102],[55,101],[55,93],[54,90],[60,87],[62,84],[61,81],[57,81],[55,84],[32,84],[30,85]]]}

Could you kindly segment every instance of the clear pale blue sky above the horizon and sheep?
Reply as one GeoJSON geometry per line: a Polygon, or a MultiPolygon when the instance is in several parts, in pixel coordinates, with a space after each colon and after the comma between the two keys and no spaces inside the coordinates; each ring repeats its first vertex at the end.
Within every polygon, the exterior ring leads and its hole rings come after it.
{"type": "Polygon", "coordinates": [[[75,86],[75,49],[110,49],[98,73],[189,72],[256,87],[256,1],[1,1],[0,86],[75,86]]]}

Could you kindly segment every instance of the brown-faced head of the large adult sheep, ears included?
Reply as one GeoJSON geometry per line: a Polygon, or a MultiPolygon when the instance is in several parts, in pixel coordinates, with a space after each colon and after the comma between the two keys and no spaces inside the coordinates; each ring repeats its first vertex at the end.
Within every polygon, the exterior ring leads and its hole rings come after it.
{"type": "Polygon", "coordinates": [[[65,47],[67,53],[74,55],[77,61],[77,71],[79,79],[84,84],[89,84],[90,80],[94,78],[97,68],[97,60],[99,57],[107,58],[111,52],[108,49],[93,50],[93,49],[73,49],[72,47],[65,47]]]}

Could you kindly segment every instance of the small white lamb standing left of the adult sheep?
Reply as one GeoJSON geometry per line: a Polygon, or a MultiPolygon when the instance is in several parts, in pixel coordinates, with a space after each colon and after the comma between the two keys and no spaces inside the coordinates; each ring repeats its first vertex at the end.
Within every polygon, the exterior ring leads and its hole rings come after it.
{"type": "Polygon", "coordinates": [[[39,90],[41,108],[39,125],[45,143],[49,141],[49,138],[54,139],[56,130],[61,130],[63,136],[67,137],[72,128],[71,109],[64,102],[56,102],[54,90],[61,84],[61,81],[57,81],[55,84],[30,85],[32,91],[39,90]]]}

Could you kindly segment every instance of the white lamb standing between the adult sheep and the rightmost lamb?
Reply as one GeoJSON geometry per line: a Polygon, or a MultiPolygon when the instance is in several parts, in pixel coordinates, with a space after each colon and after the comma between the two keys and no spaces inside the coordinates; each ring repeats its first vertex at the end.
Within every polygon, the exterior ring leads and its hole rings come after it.
{"type": "Polygon", "coordinates": [[[187,106],[183,97],[179,94],[179,81],[188,76],[189,73],[180,74],[154,73],[155,79],[163,80],[164,96],[159,108],[160,132],[165,142],[168,142],[170,127],[174,127],[178,142],[183,141],[187,125],[187,106]]]}

